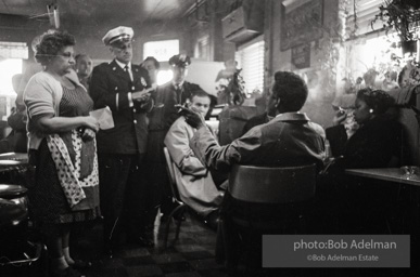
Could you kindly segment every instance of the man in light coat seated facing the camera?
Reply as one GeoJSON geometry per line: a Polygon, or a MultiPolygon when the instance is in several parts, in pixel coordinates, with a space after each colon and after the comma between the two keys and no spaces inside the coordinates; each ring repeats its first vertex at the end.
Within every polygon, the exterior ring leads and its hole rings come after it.
{"type": "MultiPolygon", "coordinates": [[[[199,90],[191,94],[187,103],[204,118],[209,109],[211,97],[206,92],[199,90]]],[[[181,116],[167,132],[165,145],[176,164],[175,179],[181,200],[206,219],[211,227],[214,227],[212,225],[215,225],[217,210],[222,198],[222,193],[218,190],[215,182],[220,179],[212,177],[211,171],[190,148],[190,140],[195,131],[181,116]]]]}

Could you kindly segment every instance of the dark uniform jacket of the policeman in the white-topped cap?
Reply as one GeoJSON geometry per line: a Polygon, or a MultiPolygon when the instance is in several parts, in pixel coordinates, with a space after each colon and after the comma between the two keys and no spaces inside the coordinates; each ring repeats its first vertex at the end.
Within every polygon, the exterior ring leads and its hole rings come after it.
{"type": "Polygon", "coordinates": [[[98,151],[109,154],[143,154],[147,151],[148,124],[147,111],[153,102],[141,107],[133,101],[129,106],[128,93],[150,88],[150,78],[145,69],[131,64],[132,81],[127,71],[113,61],[93,68],[90,95],[94,109],[109,106],[115,127],[100,130],[97,135],[98,151]]]}

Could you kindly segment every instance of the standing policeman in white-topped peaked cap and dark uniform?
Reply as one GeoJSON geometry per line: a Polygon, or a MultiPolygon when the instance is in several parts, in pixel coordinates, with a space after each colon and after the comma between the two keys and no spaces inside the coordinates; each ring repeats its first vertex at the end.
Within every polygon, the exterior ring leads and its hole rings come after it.
{"type": "Polygon", "coordinates": [[[145,226],[149,208],[148,183],[143,180],[143,156],[147,151],[147,113],[153,101],[145,69],[131,63],[133,30],[117,27],[102,38],[114,58],[93,68],[90,95],[94,108],[110,107],[114,128],[97,134],[101,183],[101,210],[104,215],[104,239],[107,254],[123,233],[129,242],[151,246],[145,226]]]}

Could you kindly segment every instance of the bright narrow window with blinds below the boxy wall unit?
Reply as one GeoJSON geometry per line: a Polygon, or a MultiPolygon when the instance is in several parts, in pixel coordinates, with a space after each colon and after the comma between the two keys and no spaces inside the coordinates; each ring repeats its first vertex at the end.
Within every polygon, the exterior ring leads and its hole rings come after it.
{"type": "Polygon", "coordinates": [[[264,40],[251,43],[234,55],[238,68],[242,68],[242,77],[245,81],[247,93],[254,90],[263,91],[264,88],[264,40]]]}

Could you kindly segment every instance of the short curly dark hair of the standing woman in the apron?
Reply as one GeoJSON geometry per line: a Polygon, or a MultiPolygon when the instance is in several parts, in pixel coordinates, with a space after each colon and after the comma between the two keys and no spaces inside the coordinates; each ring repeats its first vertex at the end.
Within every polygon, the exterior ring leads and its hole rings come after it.
{"type": "Polygon", "coordinates": [[[35,47],[35,58],[41,65],[47,65],[65,47],[74,47],[75,38],[67,31],[48,30],[41,36],[40,42],[35,47]]]}

